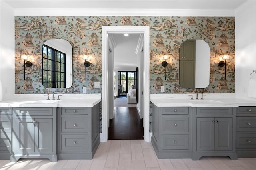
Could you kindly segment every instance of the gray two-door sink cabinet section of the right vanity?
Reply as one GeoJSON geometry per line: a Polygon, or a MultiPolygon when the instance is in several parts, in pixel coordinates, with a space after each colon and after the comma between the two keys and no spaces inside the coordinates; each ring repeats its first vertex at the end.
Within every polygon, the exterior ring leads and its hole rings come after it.
{"type": "Polygon", "coordinates": [[[233,107],[197,107],[193,116],[192,160],[202,156],[229,156],[235,153],[235,109],[233,107]]]}

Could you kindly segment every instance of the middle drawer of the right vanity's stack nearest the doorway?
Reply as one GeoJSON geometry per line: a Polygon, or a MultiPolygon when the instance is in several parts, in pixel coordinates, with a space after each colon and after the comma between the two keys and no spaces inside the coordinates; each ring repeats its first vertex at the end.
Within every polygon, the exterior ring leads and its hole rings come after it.
{"type": "Polygon", "coordinates": [[[162,117],[162,132],[188,132],[188,117],[162,117]]]}

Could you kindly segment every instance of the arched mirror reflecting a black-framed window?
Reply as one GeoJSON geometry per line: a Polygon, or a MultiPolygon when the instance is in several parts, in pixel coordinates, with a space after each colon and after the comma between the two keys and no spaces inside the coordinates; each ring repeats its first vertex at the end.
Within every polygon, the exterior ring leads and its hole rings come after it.
{"type": "Polygon", "coordinates": [[[42,84],[46,88],[69,88],[73,83],[72,46],[51,39],[42,46],[42,84]]]}

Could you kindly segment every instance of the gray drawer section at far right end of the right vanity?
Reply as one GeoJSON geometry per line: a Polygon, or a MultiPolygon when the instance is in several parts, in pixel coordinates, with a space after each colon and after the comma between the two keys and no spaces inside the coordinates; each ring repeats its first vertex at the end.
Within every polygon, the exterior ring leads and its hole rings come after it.
{"type": "Polygon", "coordinates": [[[256,107],[236,107],[236,153],[239,158],[256,157],[256,107]]]}

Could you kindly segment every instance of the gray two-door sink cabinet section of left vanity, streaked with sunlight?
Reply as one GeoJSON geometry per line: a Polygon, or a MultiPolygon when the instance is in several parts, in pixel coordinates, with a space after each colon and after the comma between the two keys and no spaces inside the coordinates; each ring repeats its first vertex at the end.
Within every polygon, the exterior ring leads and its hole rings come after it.
{"type": "Polygon", "coordinates": [[[13,108],[13,154],[19,158],[48,158],[57,161],[56,108],[13,108]]]}

